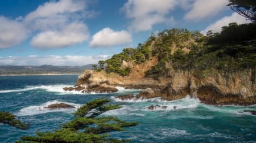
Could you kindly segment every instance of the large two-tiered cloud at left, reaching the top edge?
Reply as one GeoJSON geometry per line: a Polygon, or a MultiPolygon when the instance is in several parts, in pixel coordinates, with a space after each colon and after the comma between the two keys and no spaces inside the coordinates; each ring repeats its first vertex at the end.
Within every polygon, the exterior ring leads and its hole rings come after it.
{"type": "Polygon", "coordinates": [[[87,25],[82,23],[85,1],[50,1],[24,18],[24,24],[38,33],[30,42],[34,47],[67,47],[88,40],[87,25]]]}

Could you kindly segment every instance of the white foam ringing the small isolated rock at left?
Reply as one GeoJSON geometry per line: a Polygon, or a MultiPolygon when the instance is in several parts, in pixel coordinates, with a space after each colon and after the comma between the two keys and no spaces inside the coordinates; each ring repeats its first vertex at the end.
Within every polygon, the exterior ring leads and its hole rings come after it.
{"type": "Polygon", "coordinates": [[[43,103],[42,105],[35,105],[35,106],[28,106],[24,107],[23,109],[20,109],[19,112],[16,114],[17,116],[29,116],[29,115],[36,115],[36,114],[44,114],[47,112],[75,112],[81,105],[76,103],[69,103],[69,102],[63,102],[68,105],[72,105],[75,107],[75,109],[46,109],[45,107],[55,104],[55,103],[61,103],[61,101],[48,101],[46,103],[43,103]]]}

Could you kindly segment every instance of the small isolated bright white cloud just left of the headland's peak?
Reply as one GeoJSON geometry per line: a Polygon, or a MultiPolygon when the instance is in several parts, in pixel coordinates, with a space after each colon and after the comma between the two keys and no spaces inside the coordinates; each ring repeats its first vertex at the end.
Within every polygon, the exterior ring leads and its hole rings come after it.
{"type": "Polygon", "coordinates": [[[89,42],[91,47],[110,47],[123,45],[132,41],[131,34],[127,31],[113,31],[110,28],[104,28],[93,35],[89,42]]]}

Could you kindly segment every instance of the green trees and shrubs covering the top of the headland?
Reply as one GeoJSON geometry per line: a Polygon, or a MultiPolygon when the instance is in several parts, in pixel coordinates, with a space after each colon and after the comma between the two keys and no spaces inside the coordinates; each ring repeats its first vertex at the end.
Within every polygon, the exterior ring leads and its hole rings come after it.
{"type": "Polygon", "coordinates": [[[123,60],[140,64],[157,57],[158,64],[146,71],[146,77],[168,77],[170,70],[188,70],[198,77],[218,71],[235,72],[256,65],[256,23],[230,23],[220,33],[170,29],[151,34],[137,49],[126,48],[122,53],[99,63],[101,70],[129,75],[131,68],[123,67],[123,60]],[[103,64],[102,64],[103,63],[103,64]],[[102,66],[105,64],[105,67],[102,66]]]}

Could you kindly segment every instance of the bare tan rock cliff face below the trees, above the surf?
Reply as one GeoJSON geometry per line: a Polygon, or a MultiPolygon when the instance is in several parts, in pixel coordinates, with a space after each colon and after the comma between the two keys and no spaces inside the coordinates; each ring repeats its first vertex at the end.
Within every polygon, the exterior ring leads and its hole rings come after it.
{"type": "MultiPolygon", "coordinates": [[[[125,63],[125,62],[123,62],[125,63]]],[[[214,72],[204,77],[197,77],[192,72],[171,70],[168,78],[159,80],[144,77],[144,72],[157,63],[152,58],[143,64],[129,64],[132,68],[129,76],[119,76],[116,73],[105,73],[86,70],[79,76],[77,86],[101,86],[101,88],[126,88],[154,90],[155,96],[174,100],[184,98],[187,94],[197,97],[201,102],[213,105],[251,105],[256,103],[255,73],[243,70],[233,73],[214,72]]],[[[104,90],[102,90],[104,91],[104,90]]],[[[114,90],[113,90],[114,91],[114,90]]]]}

